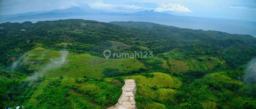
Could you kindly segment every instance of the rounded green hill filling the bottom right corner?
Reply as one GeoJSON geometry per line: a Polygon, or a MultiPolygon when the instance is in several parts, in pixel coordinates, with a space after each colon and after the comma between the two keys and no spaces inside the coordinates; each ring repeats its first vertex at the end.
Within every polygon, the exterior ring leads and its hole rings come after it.
{"type": "MultiPolygon", "coordinates": [[[[183,101],[177,107],[193,108],[256,108],[255,84],[244,84],[241,77],[244,72],[240,70],[228,70],[224,72],[214,72],[205,75],[201,79],[193,81],[186,92],[183,101]],[[248,88],[250,87],[250,88],[248,88]],[[245,94],[246,92],[246,94],[245,94]],[[253,94],[253,95],[252,95],[253,94]]],[[[179,100],[178,100],[179,101],[179,100]]]]}

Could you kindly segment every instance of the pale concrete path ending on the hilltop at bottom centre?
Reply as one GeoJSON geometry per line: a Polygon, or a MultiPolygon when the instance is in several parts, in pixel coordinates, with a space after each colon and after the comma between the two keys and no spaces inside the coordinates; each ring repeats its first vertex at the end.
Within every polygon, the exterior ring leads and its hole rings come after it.
{"type": "Polygon", "coordinates": [[[108,109],[136,109],[134,95],[136,94],[136,83],[134,79],[126,79],[122,88],[123,93],[118,103],[108,109]]]}

